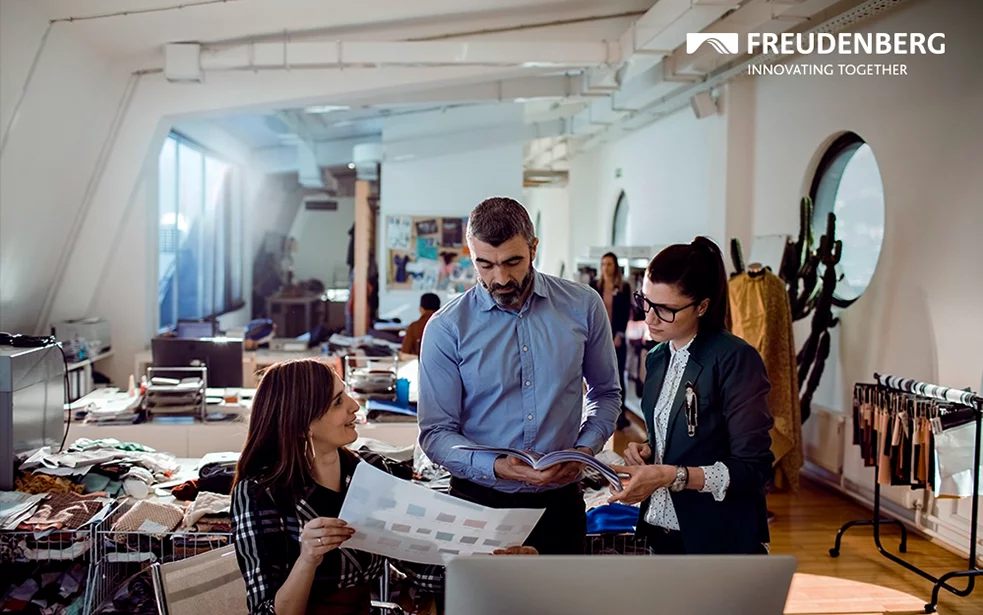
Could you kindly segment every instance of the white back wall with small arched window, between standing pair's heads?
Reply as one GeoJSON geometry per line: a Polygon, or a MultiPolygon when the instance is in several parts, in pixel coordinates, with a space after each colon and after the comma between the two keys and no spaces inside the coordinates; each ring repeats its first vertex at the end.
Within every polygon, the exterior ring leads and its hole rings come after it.
{"type": "Polygon", "coordinates": [[[568,271],[591,246],[611,244],[622,191],[629,205],[629,245],[689,242],[697,235],[722,240],[726,129],[723,116],[697,120],[686,108],[575,156],[568,271]]]}

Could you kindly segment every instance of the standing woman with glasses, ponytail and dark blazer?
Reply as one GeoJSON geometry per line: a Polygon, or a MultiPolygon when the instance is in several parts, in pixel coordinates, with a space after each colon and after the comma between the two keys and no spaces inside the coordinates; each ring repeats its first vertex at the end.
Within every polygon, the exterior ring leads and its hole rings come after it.
{"type": "Polygon", "coordinates": [[[643,502],[637,532],[660,554],[767,553],[765,484],[774,456],[770,389],[758,352],[725,328],[727,274],[697,237],[659,252],[634,296],[659,345],[646,358],[648,441],[612,502],[643,502]]]}

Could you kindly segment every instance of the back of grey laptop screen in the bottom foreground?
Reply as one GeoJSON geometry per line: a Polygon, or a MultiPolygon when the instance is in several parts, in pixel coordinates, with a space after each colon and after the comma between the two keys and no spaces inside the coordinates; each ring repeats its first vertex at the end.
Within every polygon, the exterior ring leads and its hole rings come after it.
{"type": "Polygon", "coordinates": [[[795,568],[788,555],[455,557],[446,615],[781,615],[795,568]]]}

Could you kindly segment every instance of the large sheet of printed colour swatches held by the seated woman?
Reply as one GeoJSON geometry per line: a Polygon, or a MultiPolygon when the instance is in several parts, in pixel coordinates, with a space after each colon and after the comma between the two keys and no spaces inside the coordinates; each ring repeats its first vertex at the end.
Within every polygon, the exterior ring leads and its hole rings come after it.
{"type": "Polygon", "coordinates": [[[360,463],[338,518],[355,529],[344,544],[408,562],[442,566],[455,555],[521,545],[542,509],[494,509],[360,463]]]}

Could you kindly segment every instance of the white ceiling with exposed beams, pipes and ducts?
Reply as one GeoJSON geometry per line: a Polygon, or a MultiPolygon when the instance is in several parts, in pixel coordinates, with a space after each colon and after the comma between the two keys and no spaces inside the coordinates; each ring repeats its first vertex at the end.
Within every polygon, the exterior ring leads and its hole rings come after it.
{"type": "MultiPolygon", "coordinates": [[[[214,121],[254,150],[378,140],[388,117],[520,103],[526,164],[557,168],[576,151],[686,106],[747,56],[688,32],[804,31],[864,0],[35,0],[59,28],[123,65],[166,71],[169,43],[197,42],[200,69],[495,67],[459,87],[312,101],[214,121]]],[[[729,77],[727,77],[729,78],[729,77]]],[[[214,117],[214,116],[213,116],[214,117]]],[[[430,116],[427,116],[430,118],[430,116]]],[[[427,121],[430,121],[429,119],[427,121]]],[[[459,129],[457,127],[456,129],[459,129]]],[[[483,132],[485,131],[485,132],[483,132]]],[[[476,139],[487,127],[474,127],[476,139]]],[[[480,140],[479,140],[480,142],[480,140]]],[[[342,154],[342,157],[347,154],[342,154]]],[[[289,156],[280,156],[281,159],[289,156]]]]}

